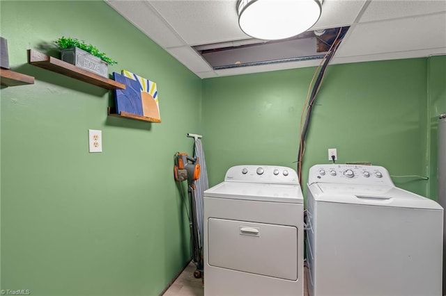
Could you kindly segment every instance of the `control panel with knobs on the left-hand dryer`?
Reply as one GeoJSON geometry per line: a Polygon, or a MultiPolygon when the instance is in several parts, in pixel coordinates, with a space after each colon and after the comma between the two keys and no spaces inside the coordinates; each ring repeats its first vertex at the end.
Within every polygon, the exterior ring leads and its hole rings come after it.
{"type": "Polygon", "coordinates": [[[236,165],[226,172],[224,181],[293,185],[299,183],[295,170],[275,165],[236,165]]]}

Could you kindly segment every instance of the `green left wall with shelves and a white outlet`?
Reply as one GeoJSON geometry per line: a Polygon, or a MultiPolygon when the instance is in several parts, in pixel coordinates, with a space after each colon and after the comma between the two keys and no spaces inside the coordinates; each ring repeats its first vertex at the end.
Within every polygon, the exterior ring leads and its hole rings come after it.
{"type": "Polygon", "coordinates": [[[103,1],[1,1],[0,24],[10,65],[36,77],[1,89],[1,288],[158,295],[190,258],[172,167],[201,132],[201,80],[103,1]],[[162,123],[107,117],[112,92],[26,63],[62,35],[157,82],[162,123]]]}

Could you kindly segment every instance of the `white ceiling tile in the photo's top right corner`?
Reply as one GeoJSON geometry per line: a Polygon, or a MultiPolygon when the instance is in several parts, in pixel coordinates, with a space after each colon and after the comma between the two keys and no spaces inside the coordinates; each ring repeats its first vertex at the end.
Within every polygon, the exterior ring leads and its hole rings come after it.
{"type": "Polygon", "coordinates": [[[442,11],[446,11],[446,1],[444,0],[371,0],[360,22],[412,17],[442,11]]]}

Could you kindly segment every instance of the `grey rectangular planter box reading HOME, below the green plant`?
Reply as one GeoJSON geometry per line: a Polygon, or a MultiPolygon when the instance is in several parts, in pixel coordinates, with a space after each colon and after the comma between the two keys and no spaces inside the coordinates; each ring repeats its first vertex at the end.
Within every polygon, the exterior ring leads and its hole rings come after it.
{"type": "Polygon", "coordinates": [[[103,77],[109,75],[107,63],[78,47],[61,49],[61,60],[103,77]]]}

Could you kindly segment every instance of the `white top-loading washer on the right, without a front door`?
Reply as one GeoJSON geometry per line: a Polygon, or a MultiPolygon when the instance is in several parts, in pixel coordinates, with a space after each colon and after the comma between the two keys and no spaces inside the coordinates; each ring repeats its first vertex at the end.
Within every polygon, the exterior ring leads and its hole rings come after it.
{"type": "Polygon", "coordinates": [[[311,295],[441,295],[439,204],[384,167],[315,165],[308,180],[311,295]]]}

